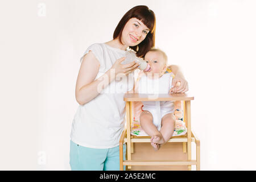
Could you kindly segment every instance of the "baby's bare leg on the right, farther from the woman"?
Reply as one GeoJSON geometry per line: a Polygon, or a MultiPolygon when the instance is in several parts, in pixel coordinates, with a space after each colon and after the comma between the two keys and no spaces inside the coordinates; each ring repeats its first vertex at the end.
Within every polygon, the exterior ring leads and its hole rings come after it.
{"type": "Polygon", "coordinates": [[[174,134],[174,114],[168,113],[162,118],[162,127],[160,129],[160,133],[162,134],[164,141],[167,142],[174,134]]]}

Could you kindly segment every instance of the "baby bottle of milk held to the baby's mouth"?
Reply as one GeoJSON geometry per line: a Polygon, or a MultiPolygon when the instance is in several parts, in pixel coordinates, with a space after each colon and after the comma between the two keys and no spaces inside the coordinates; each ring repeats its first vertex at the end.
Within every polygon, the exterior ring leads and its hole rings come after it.
{"type": "Polygon", "coordinates": [[[135,52],[132,52],[132,51],[127,51],[126,53],[126,59],[122,62],[122,64],[128,64],[128,63],[131,63],[133,61],[135,61],[136,63],[139,64],[139,69],[141,69],[142,71],[149,71],[150,70],[150,65],[144,61],[143,59],[137,57],[135,55],[135,52]]]}

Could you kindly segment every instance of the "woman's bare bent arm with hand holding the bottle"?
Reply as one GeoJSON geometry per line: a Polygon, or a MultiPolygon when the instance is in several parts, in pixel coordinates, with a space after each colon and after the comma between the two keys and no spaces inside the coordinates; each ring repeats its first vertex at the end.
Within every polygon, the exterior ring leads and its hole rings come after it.
{"type": "Polygon", "coordinates": [[[125,60],[125,57],[115,61],[112,68],[95,80],[100,68],[100,62],[96,59],[91,51],[87,53],[83,57],[79,75],[77,76],[76,101],[80,105],[86,104],[87,102],[93,100],[93,98],[97,97],[98,94],[100,94],[101,91],[110,84],[110,82],[115,80],[115,77],[119,73],[127,74],[134,71],[134,69],[138,67],[138,64],[135,63],[135,61],[130,64],[121,64],[123,60],[125,60]],[[110,75],[111,69],[114,71],[114,75],[110,75]]]}

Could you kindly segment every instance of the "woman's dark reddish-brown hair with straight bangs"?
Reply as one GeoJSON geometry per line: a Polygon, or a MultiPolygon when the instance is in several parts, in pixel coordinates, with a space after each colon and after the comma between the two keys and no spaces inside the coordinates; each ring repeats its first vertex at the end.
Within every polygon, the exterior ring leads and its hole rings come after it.
{"type": "Polygon", "coordinates": [[[137,52],[136,55],[138,57],[144,57],[144,55],[146,55],[146,53],[155,46],[155,14],[152,10],[148,9],[147,6],[135,6],[127,11],[127,13],[123,15],[123,18],[118,23],[113,34],[113,39],[119,38],[119,42],[121,44],[123,28],[131,18],[141,20],[142,23],[144,23],[144,25],[150,29],[146,38],[139,43],[138,46],[130,46],[131,49],[137,52]]]}

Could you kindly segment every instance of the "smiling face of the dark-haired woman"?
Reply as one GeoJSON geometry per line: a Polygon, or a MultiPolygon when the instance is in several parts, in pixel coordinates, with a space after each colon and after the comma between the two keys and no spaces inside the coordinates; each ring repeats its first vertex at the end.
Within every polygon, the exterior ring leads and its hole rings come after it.
{"type": "Polygon", "coordinates": [[[131,18],[122,31],[122,43],[128,46],[137,46],[147,36],[150,30],[137,18],[131,18]]]}

